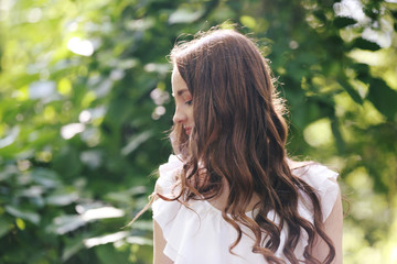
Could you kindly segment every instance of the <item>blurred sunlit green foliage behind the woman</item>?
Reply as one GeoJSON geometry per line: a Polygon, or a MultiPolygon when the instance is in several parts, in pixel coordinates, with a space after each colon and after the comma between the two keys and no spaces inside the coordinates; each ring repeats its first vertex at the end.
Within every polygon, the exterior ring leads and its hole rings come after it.
{"type": "Polygon", "coordinates": [[[167,55],[221,23],[270,59],[289,153],[340,173],[345,263],[397,263],[396,0],[1,0],[0,263],[151,263],[151,212],[125,226],[171,153],[167,55]]]}

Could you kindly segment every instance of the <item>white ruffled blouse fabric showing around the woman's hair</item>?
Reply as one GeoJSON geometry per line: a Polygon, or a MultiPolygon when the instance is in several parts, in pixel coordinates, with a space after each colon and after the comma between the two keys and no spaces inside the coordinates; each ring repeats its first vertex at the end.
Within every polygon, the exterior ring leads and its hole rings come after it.
{"type": "MultiPolygon", "coordinates": [[[[159,168],[160,177],[157,188],[160,194],[172,197],[179,194],[175,189],[176,175],[182,169],[182,162],[176,156],[171,155],[167,164],[159,168]]],[[[320,164],[309,165],[294,169],[293,173],[300,176],[305,183],[312,186],[318,193],[323,210],[323,220],[330,216],[335,204],[339,186],[336,184],[337,174],[320,164]]],[[[301,217],[313,222],[313,213],[308,198],[300,200],[298,211],[301,217]]],[[[198,200],[189,201],[189,207],[178,201],[165,201],[158,198],[153,205],[153,219],[162,229],[167,241],[164,254],[174,264],[265,264],[262,255],[251,252],[254,240],[248,235],[243,235],[242,241],[229,253],[228,248],[237,237],[236,230],[223,218],[222,212],[214,208],[210,202],[198,200]]],[[[247,216],[253,212],[247,212],[247,216]]],[[[253,217],[253,216],[250,216],[253,217]]],[[[279,222],[278,217],[270,211],[269,219],[279,222]]],[[[243,231],[250,234],[250,230],[242,227],[243,231]]],[[[288,227],[281,231],[281,243],[276,252],[278,257],[283,257],[282,249],[286,242],[288,227]]],[[[305,235],[305,232],[302,232],[305,235]]],[[[296,256],[303,260],[303,250],[308,244],[303,237],[300,239],[294,251],[296,256]]],[[[286,261],[287,258],[283,257],[286,261]]]]}

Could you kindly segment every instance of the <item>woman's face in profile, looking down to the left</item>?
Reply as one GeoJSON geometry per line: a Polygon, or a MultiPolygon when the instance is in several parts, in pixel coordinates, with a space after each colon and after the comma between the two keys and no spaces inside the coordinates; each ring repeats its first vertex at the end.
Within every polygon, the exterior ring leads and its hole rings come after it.
{"type": "Polygon", "coordinates": [[[194,128],[193,97],[176,67],[172,70],[171,84],[172,96],[175,98],[175,114],[173,117],[173,122],[175,124],[182,124],[184,132],[190,135],[194,128]]]}

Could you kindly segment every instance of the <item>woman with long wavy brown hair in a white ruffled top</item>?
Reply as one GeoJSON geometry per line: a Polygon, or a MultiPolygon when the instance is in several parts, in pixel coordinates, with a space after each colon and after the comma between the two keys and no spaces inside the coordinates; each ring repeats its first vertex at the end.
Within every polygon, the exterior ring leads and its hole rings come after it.
{"type": "Polygon", "coordinates": [[[337,174],[286,155],[266,61],[232,30],[171,52],[171,142],[152,205],[154,264],[342,263],[337,174]]]}

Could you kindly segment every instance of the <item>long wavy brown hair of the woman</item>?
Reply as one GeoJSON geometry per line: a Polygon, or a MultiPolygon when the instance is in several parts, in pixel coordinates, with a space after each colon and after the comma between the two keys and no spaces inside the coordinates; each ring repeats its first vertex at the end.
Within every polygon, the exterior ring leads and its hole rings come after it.
{"type": "Polygon", "coordinates": [[[214,198],[224,188],[222,179],[226,179],[229,195],[223,218],[238,234],[230,253],[245,226],[255,234],[253,252],[269,263],[283,263],[275,252],[287,224],[283,254],[289,262],[299,262],[293,252],[305,232],[305,261],[320,263],[311,253],[318,234],[329,246],[325,263],[331,263],[335,249],[324,232],[319,198],[287,164],[288,128],[282,103],[255,42],[233,30],[212,30],[175,45],[171,61],[193,97],[194,116],[190,136],[178,123],[170,134],[173,150],[184,163],[179,198],[214,198]],[[301,191],[313,205],[314,224],[298,213],[301,191]],[[245,209],[254,194],[260,201],[251,219],[245,209]],[[279,216],[279,224],[267,217],[270,210],[279,216]]]}

